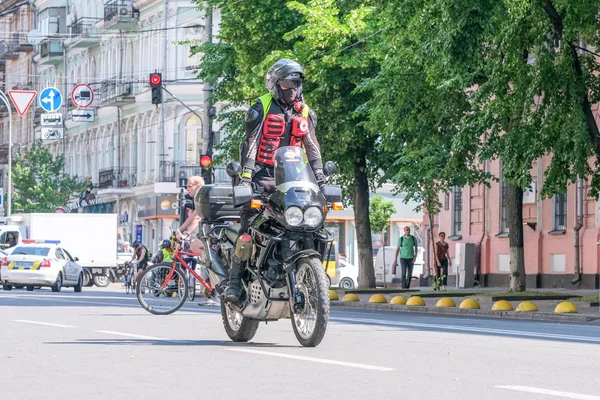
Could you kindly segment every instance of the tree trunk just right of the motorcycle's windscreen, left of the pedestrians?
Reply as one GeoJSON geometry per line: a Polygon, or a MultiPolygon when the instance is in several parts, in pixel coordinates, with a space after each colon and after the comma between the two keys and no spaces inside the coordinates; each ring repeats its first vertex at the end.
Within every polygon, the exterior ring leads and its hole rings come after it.
{"type": "MultiPolygon", "coordinates": [[[[373,243],[369,220],[369,181],[365,173],[364,158],[354,167],[356,179],[354,190],[354,221],[356,223],[356,244],[358,246],[358,287],[374,288],[373,243]]],[[[384,250],[385,251],[385,250],[384,250]]]]}

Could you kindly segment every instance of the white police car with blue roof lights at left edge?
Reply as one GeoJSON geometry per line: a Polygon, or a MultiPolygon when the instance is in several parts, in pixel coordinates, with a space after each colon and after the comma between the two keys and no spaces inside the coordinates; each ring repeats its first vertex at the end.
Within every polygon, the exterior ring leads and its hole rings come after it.
{"type": "Polygon", "coordinates": [[[60,292],[63,286],[71,286],[81,292],[83,269],[69,252],[60,246],[60,240],[24,239],[14,250],[2,258],[0,276],[4,290],[13,286],[49,286],[60,292]]]}

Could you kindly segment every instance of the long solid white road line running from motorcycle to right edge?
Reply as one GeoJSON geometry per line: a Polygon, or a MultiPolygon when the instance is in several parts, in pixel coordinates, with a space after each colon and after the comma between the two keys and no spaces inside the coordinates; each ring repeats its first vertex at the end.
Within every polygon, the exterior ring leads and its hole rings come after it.
{"type": "Polygon", "coordinates": [[[383,321],[379,319],[370,318],[343,318],[343,317],[330,317],[330,321],[339,322],[358,322],[375,325],[395,326],[399,328],[430,328],[430,329],[445,329],[450,331],[460,332],[478,332],[478,333],[490,333],[495,335],[507,335],[507,336],[525,336],[540,339],[564,339],[564,340],[580,340],[584,342],[600,343],[600,337],[592,336],[575,336],[575,335],[562,335],[558,333],[547,333],[547,332],[529,332],[529,331],[515,331],[506,329],[494,329],[494,328],[478,328],[475,326],[459,326],[459,325],[443,325],[443,324],[426,324],[420,322],[401,322],[401,321],[383,321]]]}

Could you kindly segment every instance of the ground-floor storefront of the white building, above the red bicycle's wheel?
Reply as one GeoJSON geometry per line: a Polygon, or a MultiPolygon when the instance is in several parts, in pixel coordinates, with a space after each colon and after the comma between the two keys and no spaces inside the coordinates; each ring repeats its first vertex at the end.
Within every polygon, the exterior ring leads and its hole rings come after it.
{"type": "Polygon", "coordinates": [[[156,252],[160,241],[179,226],[177,195],[149,196],[137,199],[137,219],[133,224],[133,240],[141,239],[150,251],[156,252]]]}

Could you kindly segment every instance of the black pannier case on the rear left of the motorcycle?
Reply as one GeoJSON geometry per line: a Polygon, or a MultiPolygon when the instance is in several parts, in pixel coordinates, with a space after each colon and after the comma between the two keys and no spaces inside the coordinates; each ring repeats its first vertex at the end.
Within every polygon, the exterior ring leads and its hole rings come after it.
{"type": "Polygon", "coordinates": [[[231,184],[202,186],[196,193],[194,206],[198,215],[207,220],[239,217],[242,212],[241,207],[233,207],[233,188],[231,184]]]}

